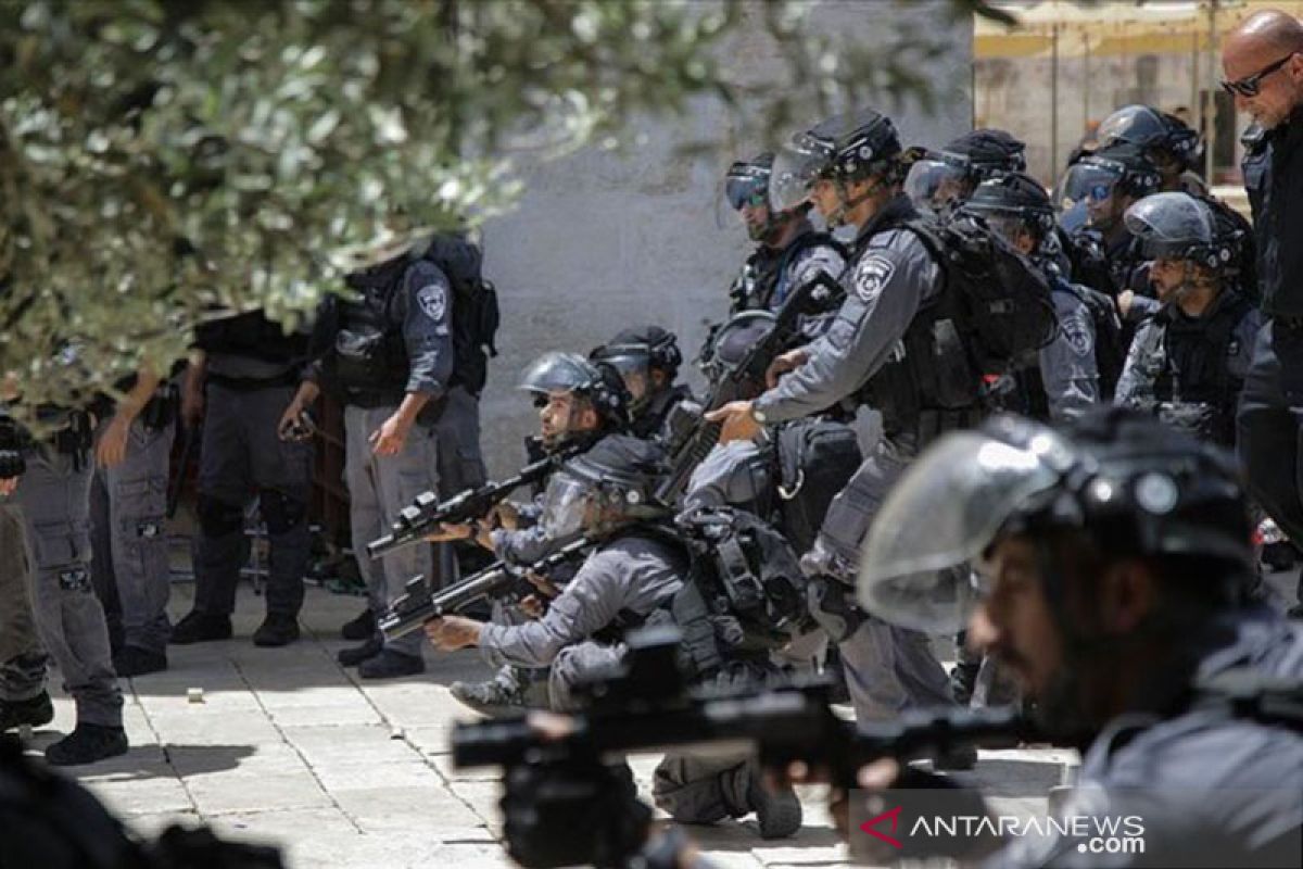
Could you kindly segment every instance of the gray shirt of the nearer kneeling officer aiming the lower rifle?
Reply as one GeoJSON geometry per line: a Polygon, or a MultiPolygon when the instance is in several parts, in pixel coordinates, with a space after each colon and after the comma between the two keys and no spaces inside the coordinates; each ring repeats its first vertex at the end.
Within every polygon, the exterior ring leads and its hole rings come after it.
{"type": "Polygon", "coordinates": [[[624,653],[623,644],[592,636],[648,616],[681,588],[684,567],[666,543],[636,533],[618,537],[588,556],[541,619],[486,624],[480,648],[494,664],[551,666],[552,707],[573,709],[577,679],[624,653]]]}

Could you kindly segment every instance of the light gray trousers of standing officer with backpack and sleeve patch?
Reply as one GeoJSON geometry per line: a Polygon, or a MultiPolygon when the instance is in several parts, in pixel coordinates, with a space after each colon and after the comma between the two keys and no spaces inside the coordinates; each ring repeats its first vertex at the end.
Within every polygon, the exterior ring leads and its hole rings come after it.
{"type": "MultiPolygon", "coordinates": [[[[384,612],[403,594],[413,576],[430,577],[434,547],[417,543],[373,559],[366,545],[390,532],[399,511],[438,483],[438,435],[433,427],[416,425],[396,456],[377,456],[367,438],[388,420],[396,406],[344,408],[344,483],[348,486],[348,517],[357,567],[366,580],[374,612],[384,612]]],[[[384,645],[395,651],[420,655],[425,642],[417,631],[384,645]]]]}

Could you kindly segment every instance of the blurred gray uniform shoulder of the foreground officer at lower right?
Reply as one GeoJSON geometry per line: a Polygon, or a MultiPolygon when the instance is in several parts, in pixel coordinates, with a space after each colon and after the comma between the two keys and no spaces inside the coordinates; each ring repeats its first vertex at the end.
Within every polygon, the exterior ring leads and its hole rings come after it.
{"type": "MultiPolygon", "coordinates": [[[[1192,640],[1197,679],[1252,667],[1298,684],[1303,627],[1261,610],[1227,614],[1192,640]]],[[[1303,829],[1303,737],[1285,724],[1233,718],[1217,706],[1173,717],[1187,674],[1167,672],[1144,692],[1144,706],[1110,722],[1085,752],[1078,793],[1065,809],[1136,814],[1143,853],[1080,852],[1078,840],[1024,838],[994,855],[993,869],[1022,866],[1299,865],[1303,829]],[[1274,843],[1276,860],[1265,855],[1274,843]],[[1252,855],[1252,856],[1251,856],[1252,855]],[[1253,859],[1256,857],[1256,860],[1253,859]]]]}

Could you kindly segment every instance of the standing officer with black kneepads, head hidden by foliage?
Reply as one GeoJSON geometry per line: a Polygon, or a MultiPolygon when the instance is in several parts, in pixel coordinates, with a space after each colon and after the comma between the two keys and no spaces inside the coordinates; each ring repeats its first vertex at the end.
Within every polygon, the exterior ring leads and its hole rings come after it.
{"type": "Polygon", "coordinates": [[[199,533],[194,538],[194,608],[172,629],[182,645],[231,637],[236,585],[249,558],[245,509],[254,496],[267,524],[267,618],[254,645],[298,638],[310,534],[313,448],[276,434],[308,360],[308,335],[287,334],[262,311],[202,324],[182,379],[186,425],[203,416],[199,533]]]}

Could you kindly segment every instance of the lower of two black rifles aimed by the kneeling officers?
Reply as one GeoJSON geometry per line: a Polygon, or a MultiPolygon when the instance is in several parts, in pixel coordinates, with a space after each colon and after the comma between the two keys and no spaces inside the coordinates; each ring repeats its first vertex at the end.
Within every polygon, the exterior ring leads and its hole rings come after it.
{"type": "Polygon", "coordinates": [[[494,562],[485,569],[438,591],[430,590],[423,576],[413,576],[407,581],[399,599],[380,616],[378,623],[380,633],[386,640],[397,640],[418,631],[431,619],[459,612],[485,598],[503,597],[511,589],[528,584],[526,573],[546,576],[562,564],[586,554],[592,547],[593,541],[581,537],[525,568],[494,562]]]}

